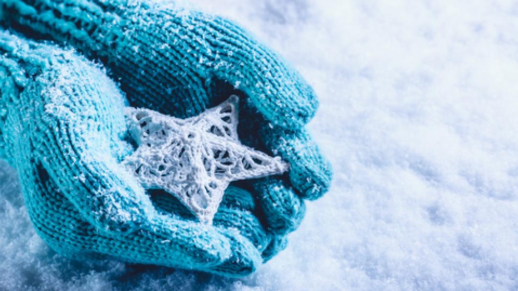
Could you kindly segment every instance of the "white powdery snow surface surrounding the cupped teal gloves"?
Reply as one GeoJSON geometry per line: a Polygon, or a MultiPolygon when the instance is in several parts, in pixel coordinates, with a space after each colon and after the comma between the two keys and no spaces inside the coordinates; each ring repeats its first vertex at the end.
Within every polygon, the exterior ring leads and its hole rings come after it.
{"type": "Polygon", "coordinates": [[[254,275],[70,261],[0,168],[0,289],[518,289],[518,4],[200,0],[314,85],[332,190],[254,275]]]}

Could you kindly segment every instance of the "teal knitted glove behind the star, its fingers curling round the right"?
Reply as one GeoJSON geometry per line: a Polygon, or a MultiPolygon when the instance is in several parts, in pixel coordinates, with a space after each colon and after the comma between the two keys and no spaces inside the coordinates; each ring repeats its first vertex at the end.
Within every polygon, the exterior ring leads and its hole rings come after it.
{"type": "MultiPolygon", "coordinates": [[[[329,164],[304,128],[318,105],[312,89],[276,53],[232,22],[151,2],[0,4],[3,24],[33,38],[66,42],[102,61],[132,106],[185,118],[219,104],[235,89],[245,95],[240,137],[291,165],[283,177],[239,183],[253,199],[243,194],[229,202],[246,205],[266,229],[266,239],[252,239],[264,259],[282,249],[284,236],[299,225],[303,199],[319,198],[328,190],[329,164]]],[[[175,205],[168,195],[154,195],[161,201],[155,202],[157,209],[170,211],[167,206],[175,205]]],[[[237,229],[247,235],[262,227],[237,229]]]]}

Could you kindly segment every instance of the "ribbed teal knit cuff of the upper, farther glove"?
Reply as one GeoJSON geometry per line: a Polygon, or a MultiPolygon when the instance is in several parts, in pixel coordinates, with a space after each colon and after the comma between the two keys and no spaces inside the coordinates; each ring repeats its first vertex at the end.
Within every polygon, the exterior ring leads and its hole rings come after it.
{"type": "Polygon", "coordinates": [[[123,36],[117,1],[0,0],[3,24],[33,38],[66,42],[90,57],[107,57],[123,36]]]}

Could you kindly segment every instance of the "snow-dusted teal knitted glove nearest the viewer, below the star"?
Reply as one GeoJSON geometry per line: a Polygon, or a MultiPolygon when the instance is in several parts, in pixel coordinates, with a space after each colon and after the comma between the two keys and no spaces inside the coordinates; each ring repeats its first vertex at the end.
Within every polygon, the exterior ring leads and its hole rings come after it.
{"type": "Polygon", "coordinates": [[[208,226],[173,196],[147,195],[120,165],[133,151],[125,100],[98,66],[5,32],[0,54],[0,155],[18,170],[31,220],[53,249],[230,276],[261,264],[271,237],[249,192],[227,188],[208,226]]]}

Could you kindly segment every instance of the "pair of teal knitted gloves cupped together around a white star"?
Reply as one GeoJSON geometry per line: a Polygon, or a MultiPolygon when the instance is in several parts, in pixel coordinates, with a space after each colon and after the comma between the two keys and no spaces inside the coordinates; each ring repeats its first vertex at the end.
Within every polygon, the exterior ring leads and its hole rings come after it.
{"type": "Polygon", "coordinates": [[[314,92],[232,22],[151,2],[0,0],[0,23],[75,49],[0,33],[0,155],[54,250],[238,277],[285,248],[304,200],[328,190],[329,163],[305,129],[314,92]],[[290,170],[229,186],[205,225],[121,166],[133,151],[124,107],[186,118],[232,94],[241,141],[290,170]]]}

